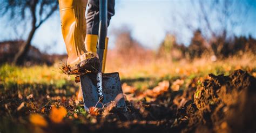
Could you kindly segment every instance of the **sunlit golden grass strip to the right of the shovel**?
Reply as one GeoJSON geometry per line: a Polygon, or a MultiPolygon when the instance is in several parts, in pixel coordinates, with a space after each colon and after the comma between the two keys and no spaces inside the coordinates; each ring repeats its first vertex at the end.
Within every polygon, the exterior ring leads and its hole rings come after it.
{"type": "Polygon", "coordinates": [[[193,62],[186,60],[173,62],[166,59],[152,59],[140,64],[139,61],[137,63],[119,62],[110,58],[106,64],[106,72],[118,71],[123,83],[138,89],[152,88],[161,80],[173,82],[183,79],[188,83],[194,78],[203,80],[209,73],[228,75],[237,69],[248,71],[252,75],[256,74],[256,56],[253,54],[237,55],[215,62],[208,57],[198,58],[193,62]]]}

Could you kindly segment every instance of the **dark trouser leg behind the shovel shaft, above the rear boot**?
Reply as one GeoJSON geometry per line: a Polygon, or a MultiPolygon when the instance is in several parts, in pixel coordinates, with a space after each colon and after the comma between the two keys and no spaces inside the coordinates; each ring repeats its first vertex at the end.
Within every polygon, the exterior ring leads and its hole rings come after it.
{"type": "MultiPolygon", "coordinates": [[[[88,6],[89,7],[86,14],[86,34],[97,35],[99,31],[99,0],[88,0],[88,6]]],[[[109,26],[112,16],[114,16],[114,0],[108,0],[107,26],[109,26]]]]}

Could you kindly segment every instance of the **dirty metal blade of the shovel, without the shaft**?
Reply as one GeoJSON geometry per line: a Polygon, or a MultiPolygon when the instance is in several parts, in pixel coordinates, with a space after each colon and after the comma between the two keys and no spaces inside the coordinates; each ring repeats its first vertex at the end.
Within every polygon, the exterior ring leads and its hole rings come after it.
{"type": "MultiPolygon", "coordinates": [[[[99,101],[97,91],[97,80],[95,73],[87,73],[80,76],[80,83],[83,91],[84,107],[87,110],[96,106],[99,101]]],[[[96,107],[101,108],[103,104],[115,101],[118,107],[125,107],[122,84],[120,82],[119,73],[102,73],[103,101],[98,103],[96,107]]]]}

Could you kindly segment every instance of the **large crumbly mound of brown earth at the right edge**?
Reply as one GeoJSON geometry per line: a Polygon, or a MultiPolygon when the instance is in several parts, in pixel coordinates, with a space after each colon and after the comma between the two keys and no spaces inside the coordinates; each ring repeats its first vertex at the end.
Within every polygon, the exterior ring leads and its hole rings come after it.
{"type": "Polygon", "coordinates": [[[190,117],[189,130],[202,126],[215,132],[254,132],[256,125],[256,79],[237,70],[229,76],[209,75],[203,86],[198,86],[194,102],[199,112],[190,117]]]}

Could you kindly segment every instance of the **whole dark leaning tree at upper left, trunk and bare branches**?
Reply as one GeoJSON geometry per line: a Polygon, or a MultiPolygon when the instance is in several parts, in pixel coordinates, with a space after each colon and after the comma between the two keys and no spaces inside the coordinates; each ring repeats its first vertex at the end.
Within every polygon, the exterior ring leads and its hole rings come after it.
{"type": "Polygon", "coordinates": [[[1,3],[0,16],[19,23],[29,20],[31,29],[14,57],[13,64],[21,65],[31,46],[36,30],[58,9],[57,0],[5,0],[1,3]],[[28,19],[29,18],[29,19],[28,19]]]}

